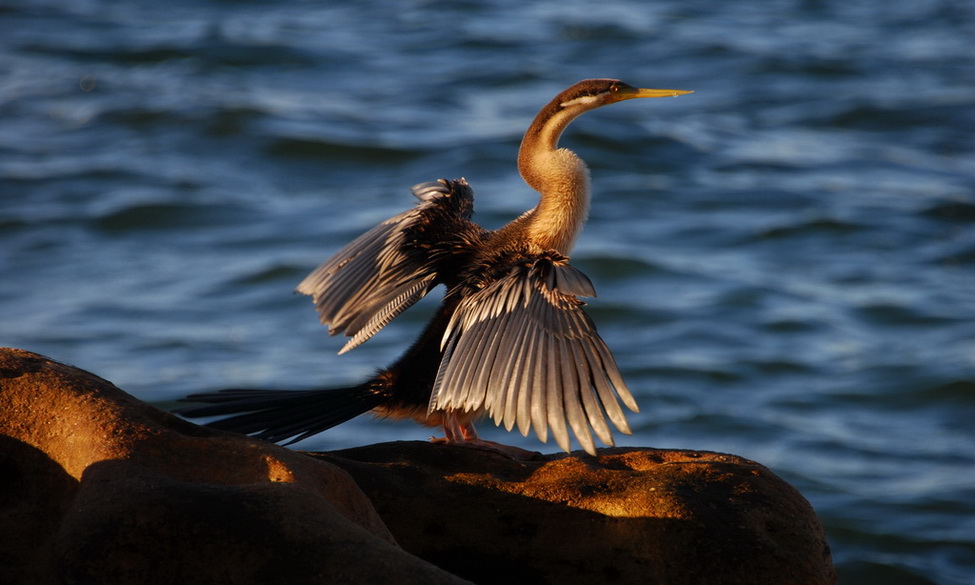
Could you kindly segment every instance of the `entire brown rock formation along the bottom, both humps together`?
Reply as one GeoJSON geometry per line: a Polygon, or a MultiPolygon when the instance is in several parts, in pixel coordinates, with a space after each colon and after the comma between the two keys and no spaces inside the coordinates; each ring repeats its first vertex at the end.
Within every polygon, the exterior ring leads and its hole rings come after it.
{"type": "Polygon", "coordinates": [[[805,499],[732,455],[311,455],[0,349],[0,583],[836,580],[805,499]]]}

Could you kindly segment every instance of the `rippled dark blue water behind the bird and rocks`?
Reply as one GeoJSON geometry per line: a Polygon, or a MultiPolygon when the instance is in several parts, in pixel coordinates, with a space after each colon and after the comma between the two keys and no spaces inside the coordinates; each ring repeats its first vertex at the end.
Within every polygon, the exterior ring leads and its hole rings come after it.
{"type": "Polygon", "coordinates": [[[3,1],[0,345],[164,407],[359,380],[429,305],[339,357],[307,271],[420,181],[468,177],[488,227],[532,206],[521,132],[578,79],[694,89],[564,140],[624,444],[770,466],[844,583],[972,583],[973,39],[961,0],[3,1]]]}

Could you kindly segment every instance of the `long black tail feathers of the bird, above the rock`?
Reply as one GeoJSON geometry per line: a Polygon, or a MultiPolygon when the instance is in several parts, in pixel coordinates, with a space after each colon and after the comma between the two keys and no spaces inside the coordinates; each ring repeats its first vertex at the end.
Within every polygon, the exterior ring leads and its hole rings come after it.
{"type": "Polygon", "coordinates": [[[193,394],[184,402],[205,402],[176,411],[186,417],[233,414],[208,423],[225,431],[254,435],[285,444],[306,439],[372,410],[386,400],[370,384],[324,390],[248,390],[231,388],[193,394]]]}

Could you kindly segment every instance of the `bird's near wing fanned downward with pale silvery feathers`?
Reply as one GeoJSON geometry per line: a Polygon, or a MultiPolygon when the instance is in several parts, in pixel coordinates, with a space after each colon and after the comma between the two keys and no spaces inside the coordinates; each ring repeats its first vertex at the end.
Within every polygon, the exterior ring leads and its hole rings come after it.
{"type": "Polygon", "coordinates": [[[508,430],[548,431],[569,450],[566,422],[589,453],[590,429],[607,445],[606,417],[630,430],[619,400],[637,412],[606,344],[578,296],[592,283],[554,254],[523,258],[505,276],[465,297],[444,335],[430,410],[484,410],[508,430]]]}

